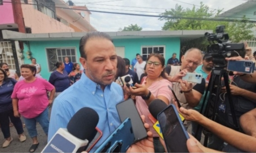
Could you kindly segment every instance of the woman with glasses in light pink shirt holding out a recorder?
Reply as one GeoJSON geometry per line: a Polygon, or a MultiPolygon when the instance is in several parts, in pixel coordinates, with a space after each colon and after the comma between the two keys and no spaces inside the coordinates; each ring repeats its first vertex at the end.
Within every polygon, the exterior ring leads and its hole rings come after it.
{"type": "Polygon", "coordinates": [[[167,105],[170,104],[172,94],[168,85],[171,86],[165,76],[165,58],[160,54],[150,54],[147,58],[146,74],[142,79],[141,85],[135,84],[137,89],[127,88],[125,90],[130,95],[136,95],[136,107],[140,115],[145,115],[145,121],[150,126],[150,131],[153,132],[155,153],[164,153],[165,149],[160,143],[159,135],[153,129],[153,123],[149,120],[150,115],[148,105],[158,98],[164,101],[167,105]]]}

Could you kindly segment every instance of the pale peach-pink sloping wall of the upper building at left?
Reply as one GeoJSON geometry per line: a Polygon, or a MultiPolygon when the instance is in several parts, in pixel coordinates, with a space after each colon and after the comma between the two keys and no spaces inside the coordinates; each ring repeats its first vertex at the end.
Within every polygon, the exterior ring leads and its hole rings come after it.
{"type": "Polygon", "coordinates": [[[73,28],[34,9],[32,5],[22,5],[22,12],[25,26],[30,27],[32,33],[74,32],[73,28]]]}

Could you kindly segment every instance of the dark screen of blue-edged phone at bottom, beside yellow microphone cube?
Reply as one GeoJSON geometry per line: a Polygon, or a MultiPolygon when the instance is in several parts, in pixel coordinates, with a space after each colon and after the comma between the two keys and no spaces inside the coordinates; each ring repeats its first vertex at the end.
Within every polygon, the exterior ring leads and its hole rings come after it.
{"type": "Polygon", "coordinates": [[[176,107],[169,105],[158,114],[158,122],[168,153],[188,153],[187,139],[189,136],[178,116],[176,107]]]}

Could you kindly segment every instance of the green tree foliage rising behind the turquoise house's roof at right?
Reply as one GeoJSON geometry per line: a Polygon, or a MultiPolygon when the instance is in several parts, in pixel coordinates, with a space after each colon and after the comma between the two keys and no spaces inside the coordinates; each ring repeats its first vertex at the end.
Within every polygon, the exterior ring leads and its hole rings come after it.
{"type": "MultiPolygon", "coordinates": [[[[176,4],[175,9],[166,10],[161,15],[173,17],[191,17],[191,18],[218,18],[223,9],[210,10],[203,2],[200,2],[200,8],[183,9],[181,5],[176,4]]],[[[225,33],[229,34],[232,42],[240,42],[241,40],[252,39],[252,28],[255,24],[248,23],[248,19],[244,16],[241,20],[235,22],[194,20],[194,19],[170,19],[162,17],[159,20],[166,20],[162,30],[214,30],[218,25],[225,25],[225,33]]]]}

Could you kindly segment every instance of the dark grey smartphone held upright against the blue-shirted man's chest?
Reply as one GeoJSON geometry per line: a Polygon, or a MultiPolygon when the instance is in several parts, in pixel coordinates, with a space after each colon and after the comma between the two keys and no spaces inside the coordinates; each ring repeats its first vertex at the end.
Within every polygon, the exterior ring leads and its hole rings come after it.
{"type": "Polygon", "coordinates": [[[131,98],[117,104],[116,109],[121,122],[123,122],[126,118],[131,119],[131,125],[135,136],[134,143],[147,138],[147,130],[145,129],[140,118],[140,114],[131,98]]]}

